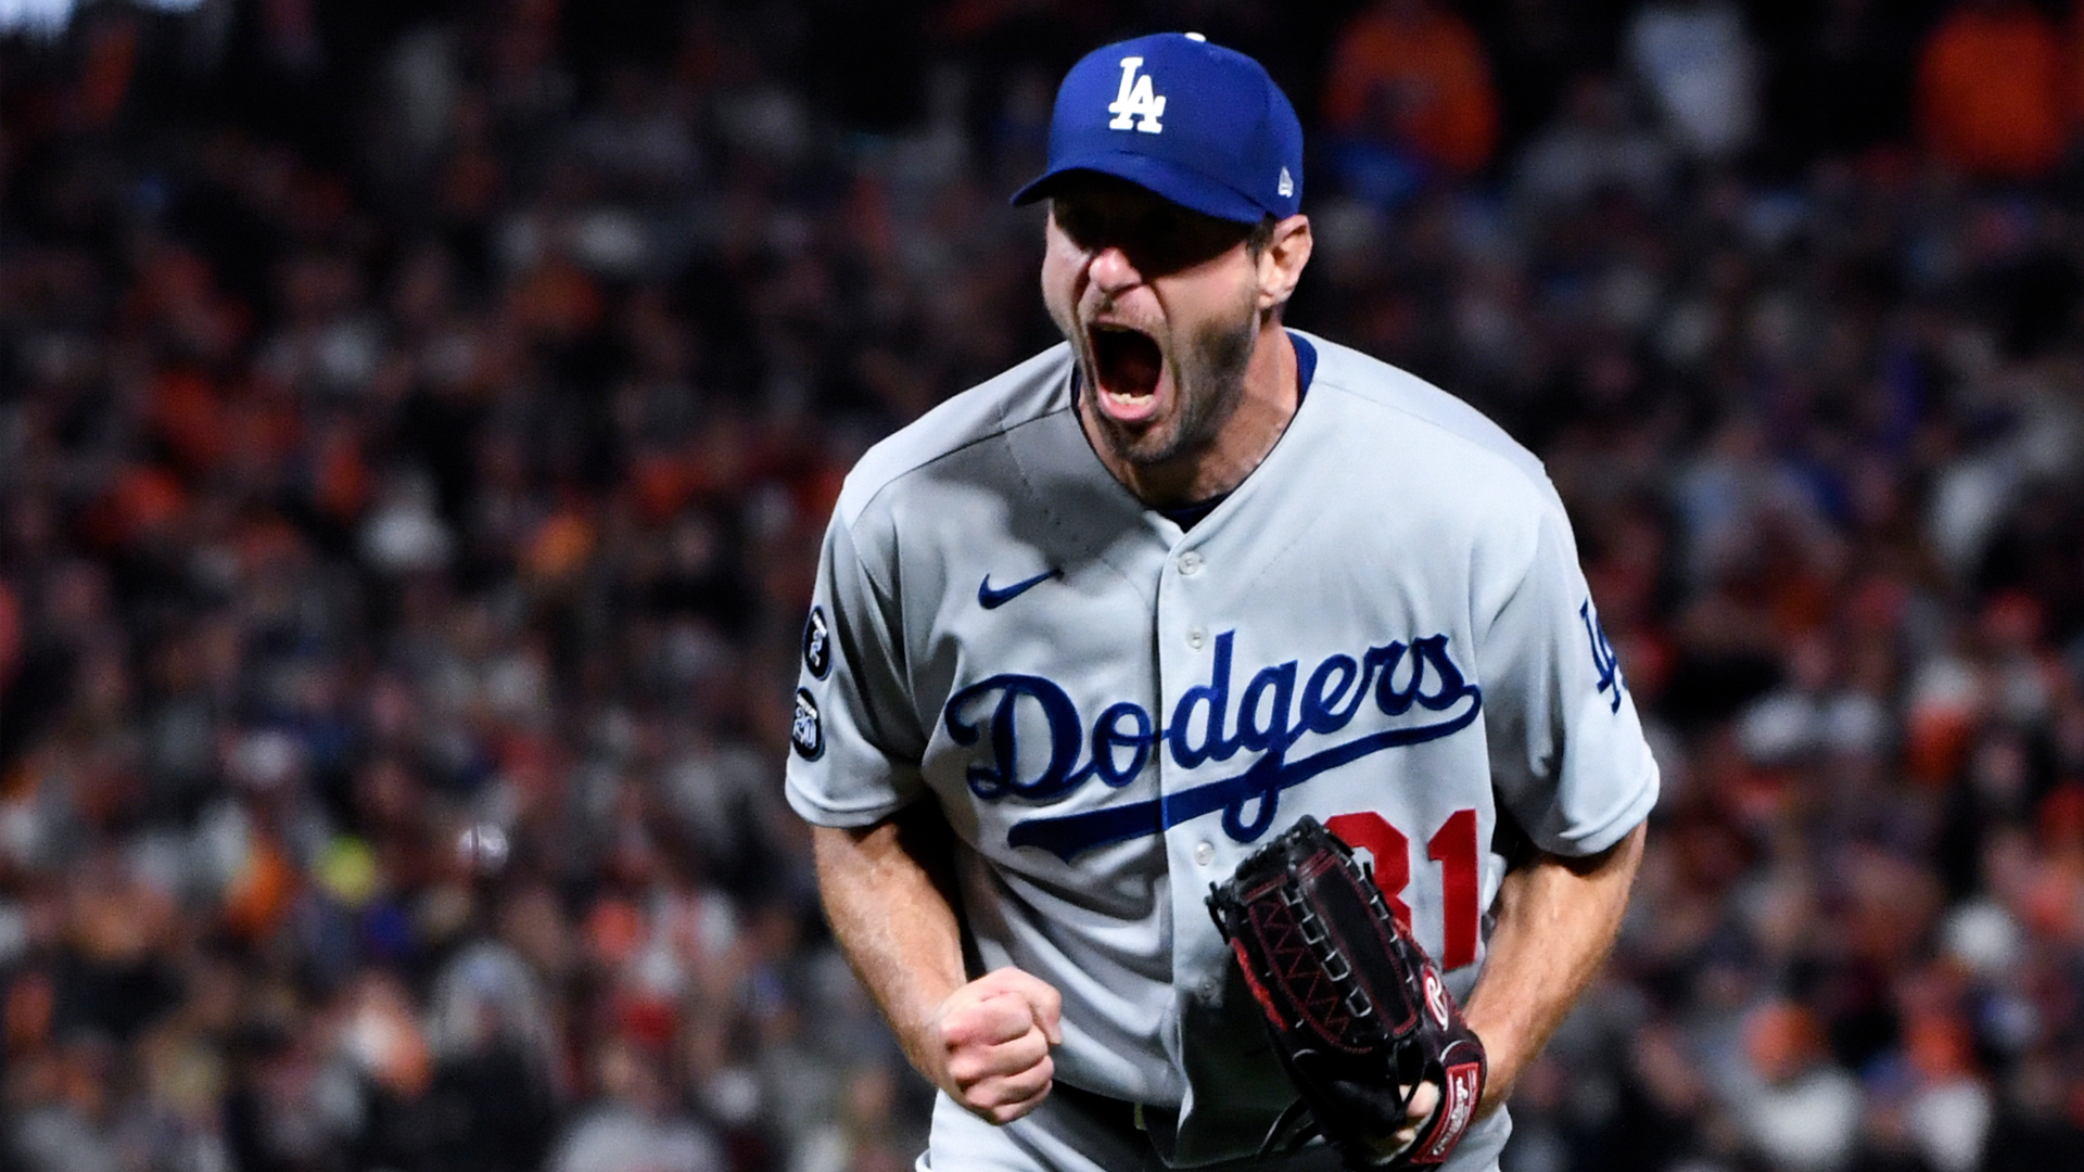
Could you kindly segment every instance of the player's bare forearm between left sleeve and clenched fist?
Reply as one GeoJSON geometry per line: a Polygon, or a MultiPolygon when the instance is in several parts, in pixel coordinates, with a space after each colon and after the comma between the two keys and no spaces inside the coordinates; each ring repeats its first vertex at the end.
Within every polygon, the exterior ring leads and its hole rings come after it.
{"type": "Polygon", "coordinates": [[[904,820],[865,830],[813,828],[817,886],[840,951],[882,1005],[921,1072],[927,1024],[963,980],[963,938],[948,893],[913,853],[904,820]]]}

